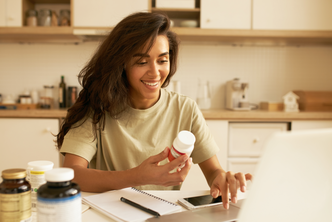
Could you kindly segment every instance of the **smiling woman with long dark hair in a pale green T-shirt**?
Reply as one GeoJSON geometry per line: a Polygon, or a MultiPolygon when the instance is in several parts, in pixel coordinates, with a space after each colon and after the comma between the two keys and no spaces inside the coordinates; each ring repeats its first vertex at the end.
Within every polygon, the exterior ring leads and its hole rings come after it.
{"type": "Polygon", "coordinates": [[[161,190],[180,189],[193,161],[228,208],[229,192],[236,202],[237,186],[244,192],[251,175],[225,172],[196,103],[163,89],[177,68],[178,41],[169,28],[163,14],[135,13],[101,44],[79,74],[83,89],[57,135],[64,166],[83,191],[161,190]],[[196,136],[194,151],[169,162],[181,130],[196,136]]]}

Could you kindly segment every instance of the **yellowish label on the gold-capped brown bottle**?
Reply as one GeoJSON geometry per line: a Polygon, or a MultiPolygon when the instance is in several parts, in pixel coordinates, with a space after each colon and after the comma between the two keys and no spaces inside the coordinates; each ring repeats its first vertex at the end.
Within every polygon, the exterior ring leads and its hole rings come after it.
{"type": "Polygon", "coordinates": [[[0,194],[0,221],[31,222],[31,192],[0,194]]]}

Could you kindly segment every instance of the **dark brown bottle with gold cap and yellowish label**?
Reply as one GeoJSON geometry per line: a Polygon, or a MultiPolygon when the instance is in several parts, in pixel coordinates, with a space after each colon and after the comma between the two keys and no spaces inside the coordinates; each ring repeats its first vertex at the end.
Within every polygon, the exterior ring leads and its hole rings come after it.
{"type": "Polygon", "coordinates": [[[2,171],[0,221],[31,222],[31,186],[25,169],[2,171]]]}

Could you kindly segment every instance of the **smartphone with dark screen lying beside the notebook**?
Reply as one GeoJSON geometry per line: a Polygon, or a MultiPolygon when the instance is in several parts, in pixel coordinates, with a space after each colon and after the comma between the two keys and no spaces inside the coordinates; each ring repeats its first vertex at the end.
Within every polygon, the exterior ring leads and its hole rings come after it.
{"type": "Polygon", "coordinates": [[[178,202],[188,210],[193,210],[197,208],[222,204],[222,199],[221,196],[213,198],[211,195],[202,195],[202,196],[181,198],[178,200],[178,202]]]}

